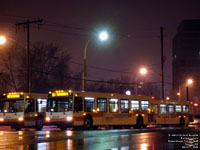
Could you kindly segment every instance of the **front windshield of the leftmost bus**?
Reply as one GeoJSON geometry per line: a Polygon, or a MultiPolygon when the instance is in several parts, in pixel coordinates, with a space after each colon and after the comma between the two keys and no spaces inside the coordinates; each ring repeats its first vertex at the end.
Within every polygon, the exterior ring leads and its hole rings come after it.
{"type": "Polygon", "coordinates": [[[3,100],[2,110],[5,113],[15,113],[24,111],[24,99],[3,100]]]}

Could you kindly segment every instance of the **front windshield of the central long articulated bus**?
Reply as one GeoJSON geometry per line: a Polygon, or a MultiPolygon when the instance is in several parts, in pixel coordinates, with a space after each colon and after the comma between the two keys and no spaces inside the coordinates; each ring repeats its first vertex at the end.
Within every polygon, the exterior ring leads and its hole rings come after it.
{"type": "Polygon", "coordinates": [[[72,97],[49,98],[47,100],[47,112],[66,112],[72,111],[72,97]]]}

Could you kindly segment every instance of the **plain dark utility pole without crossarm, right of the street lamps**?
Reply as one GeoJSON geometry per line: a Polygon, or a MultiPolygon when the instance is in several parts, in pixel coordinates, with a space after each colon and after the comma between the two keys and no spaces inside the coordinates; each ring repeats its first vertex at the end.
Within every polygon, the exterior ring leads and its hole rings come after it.
{"type": "Polygon", "coordinates": [[[160,27],[160,42],[161,42],[161,80],[162,80],[162,100],[165,99],[164,93],[164,56],[163,56],[163,27],[160,27]]]}

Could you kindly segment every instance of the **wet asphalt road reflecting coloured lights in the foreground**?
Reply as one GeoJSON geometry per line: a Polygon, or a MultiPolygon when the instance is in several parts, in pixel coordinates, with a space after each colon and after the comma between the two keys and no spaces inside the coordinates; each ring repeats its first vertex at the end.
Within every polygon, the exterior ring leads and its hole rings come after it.
{"type": "Polygon", "coordinates": [[[0,131],[0,149],[5,150],[187,150],[200,146],[199,126],[90,131],[3,130],[0,131]],[[181,137],[189,134],[199,139],[189,141],[190,147],[181,142],[181,137]]]}

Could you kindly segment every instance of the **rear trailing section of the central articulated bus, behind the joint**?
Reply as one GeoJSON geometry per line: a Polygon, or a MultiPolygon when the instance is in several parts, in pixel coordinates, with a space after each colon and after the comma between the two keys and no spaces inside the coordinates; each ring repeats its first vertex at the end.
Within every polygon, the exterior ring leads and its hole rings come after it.
{"type": "Polygon", "coordinates": [[[154,123],[157,125],[188,125],[193,122],[194,108],[189,101],[154,100],[154,123]]]}

